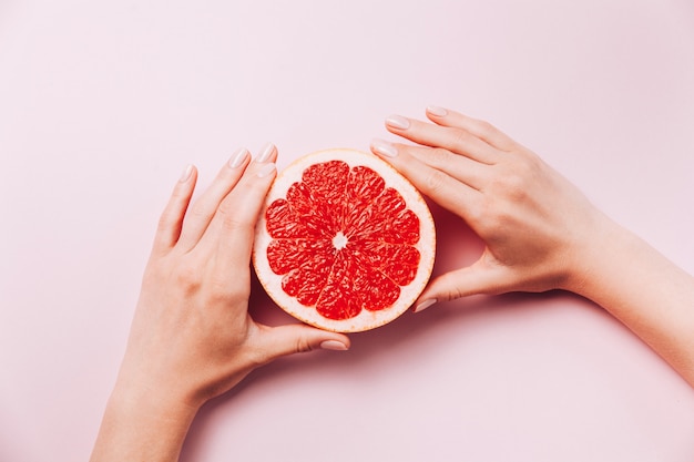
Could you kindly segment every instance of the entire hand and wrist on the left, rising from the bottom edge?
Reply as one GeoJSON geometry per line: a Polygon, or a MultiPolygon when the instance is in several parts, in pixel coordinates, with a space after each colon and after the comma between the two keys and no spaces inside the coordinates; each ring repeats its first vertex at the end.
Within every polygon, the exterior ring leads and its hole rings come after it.
{"type": "Polygon", "coordinates": [[[239,150],[188,211],[188,166],[162,214],[125,357],[92,455],[176,460],[197,409],[280,356],[346,350],[349,339],[248,315],[254,227],[277,151],[239,150]],[[187,212],[187,213],[186,213],[187,212]]]}

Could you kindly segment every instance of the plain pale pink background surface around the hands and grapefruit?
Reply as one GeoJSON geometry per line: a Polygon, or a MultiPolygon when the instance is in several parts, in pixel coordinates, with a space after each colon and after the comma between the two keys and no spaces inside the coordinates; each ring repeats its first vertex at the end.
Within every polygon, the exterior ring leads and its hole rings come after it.
{"type": "MultiPolygon", "coordinates": [[[[691,0],[0,1],[0,460],[89,456],[186,163],[204,186],[239,146],[275,142],[280,167],[367,150],[428,104],[493,122],[694,271],[691,0]]],[[[472,261],[435,215],[436,271],[472,261]]],[[[694,460],[694,391],[579,297],[351,338],[208,403],[183,460],[694,460]]]]}

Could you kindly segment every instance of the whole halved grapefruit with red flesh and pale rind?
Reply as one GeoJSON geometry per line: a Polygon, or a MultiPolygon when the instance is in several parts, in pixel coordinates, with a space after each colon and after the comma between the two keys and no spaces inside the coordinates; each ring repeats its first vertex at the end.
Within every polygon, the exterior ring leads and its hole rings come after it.
{"type": "Polygon", "coordinates": [[[435,248],[431,213],[407,178],[372,154],[327,150],[275,178],[253,264],[289,315],[356,332],[412,305],[431,275],[435,248]]]}

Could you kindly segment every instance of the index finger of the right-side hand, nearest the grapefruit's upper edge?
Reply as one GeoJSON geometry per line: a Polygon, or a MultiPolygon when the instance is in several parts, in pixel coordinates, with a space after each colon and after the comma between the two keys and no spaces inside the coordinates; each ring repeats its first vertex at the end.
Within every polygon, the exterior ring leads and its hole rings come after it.
{"type": "Polygon", "coordinates": [[[474,187],[420,161],[405,145],[374,140],[371,151],[405,175],[417,189],[458,215],[465,215],[481,199],[480,192],[474,187]]]}

